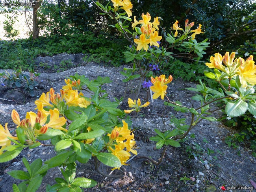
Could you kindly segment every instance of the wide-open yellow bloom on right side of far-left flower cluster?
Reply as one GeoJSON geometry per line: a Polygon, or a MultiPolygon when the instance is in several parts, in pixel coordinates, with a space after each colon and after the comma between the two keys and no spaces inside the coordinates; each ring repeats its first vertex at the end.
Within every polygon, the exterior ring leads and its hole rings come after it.
{"type": "Polygon", "coordinates": [[[47,124],[48,127],[53,129],[60,129],[62,131],[67,132],[67,129],[63,128],[62,126],[66,123],[65,117],[59,117],[59,110],[54,108],[53,110],[50,109],[50,121],[47,124]]]}

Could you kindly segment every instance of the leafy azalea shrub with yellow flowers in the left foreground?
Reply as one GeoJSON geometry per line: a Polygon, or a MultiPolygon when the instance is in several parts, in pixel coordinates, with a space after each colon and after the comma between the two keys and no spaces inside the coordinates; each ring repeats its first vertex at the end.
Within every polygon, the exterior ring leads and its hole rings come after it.
{"type": "Polygon", "coordinates": [[[19,113],[15,109],[12,111],[17,137],[10,134],[7,123],[4,127],[0,125],[0,162],[14,159],[24,148],[45,146],[43,140],[50,139],[50,146],[56,151],[56,156],[45,161],[43,166],[41,159],[29,164],[23,158],[28,172],[8,172],[16,179],[26,180],[18,186],[13,184],[13,190],[36,191],[42,177],[56,166],[67,166],[61,169],[66,181],[56,178],[57,184],[48,185],[48,191],[93,187],[96,185],[93,179],[75,178],[76,161],[87,163],[93,158],[95,169],[101,174],[104,172],[99,166],[103,163],[113,170],[121,170],[122,175],[124,168],[121,166],[126,165],[131,153],[137,155],[134,134],[128,126],[130,121],[121,121],[125,113],[117,109],[117,102],[108,100],[106,90],[102,89],[103,84],[112,81],[108,77],[89,81],[76,74],[65,82],[58,93],[51,88],[35,101],[37,113],[27,112],[26,118],[21,120],[19,113]],[[90,98],[84,96],[82,90],[90,92],[90,98]]]}

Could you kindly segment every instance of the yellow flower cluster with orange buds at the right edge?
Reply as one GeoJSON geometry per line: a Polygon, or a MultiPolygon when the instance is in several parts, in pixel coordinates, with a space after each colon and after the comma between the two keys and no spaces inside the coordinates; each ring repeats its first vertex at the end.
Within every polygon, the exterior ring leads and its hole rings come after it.
{"type": "Polygon", "coordinates": [[[241,57],[234,60],[235,55],[235,52],[232,52],[230,55],[229,52],[226,52],[224,56],[216,53],[214,57],[210,57],[210,63],[206,63],[205,65],[209,68],[217,68],[221,70],[226,73],[228,78],[238,75],[243,87],[247,87],[248,83],[250,85],[255,85],[256,65],[254,65],[253,56],[250,55],[245,61],[241,57]]]}

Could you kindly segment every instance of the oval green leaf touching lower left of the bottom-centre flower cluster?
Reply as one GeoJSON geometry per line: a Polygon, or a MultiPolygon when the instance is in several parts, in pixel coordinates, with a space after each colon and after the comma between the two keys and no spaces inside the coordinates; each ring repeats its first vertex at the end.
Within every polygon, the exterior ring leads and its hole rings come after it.
{"type": "Polygon", "coordinates": [[[113,154],[111,153],[98,153],[96,154],[96,157],[100,162],[103,164],[110,166],[110,167],[121,167],[121,161],[113,154]]]}

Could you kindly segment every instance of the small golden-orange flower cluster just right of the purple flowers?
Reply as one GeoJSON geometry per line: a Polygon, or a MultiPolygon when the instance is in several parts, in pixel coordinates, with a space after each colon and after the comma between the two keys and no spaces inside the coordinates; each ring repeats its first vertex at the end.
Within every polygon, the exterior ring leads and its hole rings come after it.
{"type": "Polygon", "coordinates": [[[168,79],[165,79],[165,75],[160,75],[156,78],[151,77],[151,83],[153,83],[154,86],[151,86],[150,89],[155,92],[153,99],[157,99],[159,96],[161,96],[161,99],[163,100],[168,87],[167,84],[171,81],[173,81],[173,77],[171,75],[168,77],[168,79]]]}

